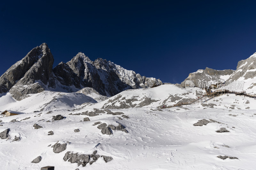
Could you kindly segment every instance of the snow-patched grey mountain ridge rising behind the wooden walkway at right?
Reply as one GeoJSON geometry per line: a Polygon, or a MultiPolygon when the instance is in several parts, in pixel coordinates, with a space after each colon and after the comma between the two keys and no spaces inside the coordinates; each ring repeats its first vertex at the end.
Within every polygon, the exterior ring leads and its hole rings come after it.
{"type": "Polygon", "coordinates": [[[202,86],[202,83],[208,87],[217,81],[225,82],[223,89],[245,90],[249,94],[256,94],[256,53],[246,60],[238,62],[236,70],[213,70],[205,68],[190,73],[188,78],[181,82],[181,86],[186,86],[186,81],[192,81],[195,86],[202,86]],[[198,84],[201,83],[201,84],[198,84]]]}

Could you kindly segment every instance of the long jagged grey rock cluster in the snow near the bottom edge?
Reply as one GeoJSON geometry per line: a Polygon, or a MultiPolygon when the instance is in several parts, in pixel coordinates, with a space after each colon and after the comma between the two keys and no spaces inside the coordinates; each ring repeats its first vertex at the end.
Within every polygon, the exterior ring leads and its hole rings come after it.
{"type": "Polygon", "coordinates": [[[63,158],[64,161],[70,162],[70,163],[77,163],[78,166],[82,165],[82,166],[86,166],[86,164],[90,164],[92,165],[93,162],[96,162],[100,157],[103,157],[103,160],[105,162],[109,162],[111,161],[113,158],[110,156],[100,156],[98,154],[96,154],[97,151],[94,151],[92,154],[90,155],[86,155],[86,154],[79,154],[79,153],[73,153],[73,152],[67,152],[63,158]]]}

